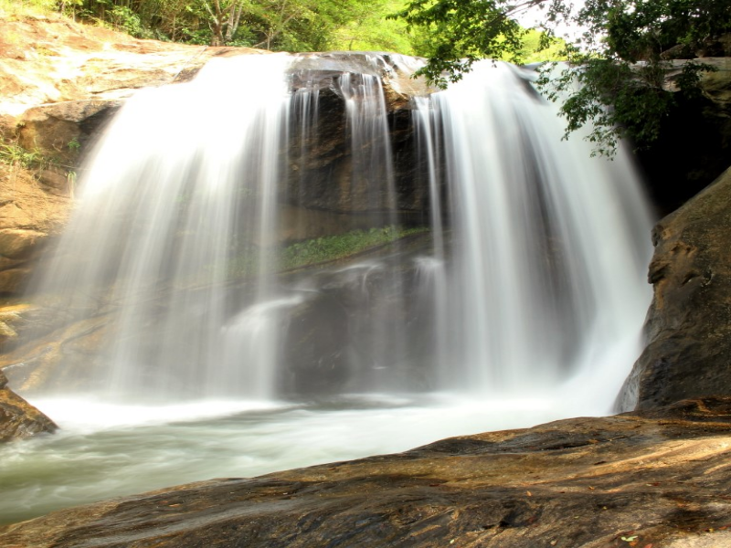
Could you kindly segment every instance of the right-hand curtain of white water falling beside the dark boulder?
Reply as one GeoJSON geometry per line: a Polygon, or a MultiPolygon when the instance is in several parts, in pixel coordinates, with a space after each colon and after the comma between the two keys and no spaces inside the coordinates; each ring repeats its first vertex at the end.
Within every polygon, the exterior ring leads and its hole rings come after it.
{"type": "MultiPolygon", "coordinates": [[[[627,159],[607,165],[577,137],[562,142],[556,112],[529,79],[483,65],[432,99],[457,242],[451,385],[483,393],[544,391],[578,370],[601,375],[621,344],[630,363],[646,306],[638,235],[648,215],[627,159]]],[[[603,398],[593,395],[603,402],[623,375],[608,366],[617,374],[600,385],[603,398]]]]}

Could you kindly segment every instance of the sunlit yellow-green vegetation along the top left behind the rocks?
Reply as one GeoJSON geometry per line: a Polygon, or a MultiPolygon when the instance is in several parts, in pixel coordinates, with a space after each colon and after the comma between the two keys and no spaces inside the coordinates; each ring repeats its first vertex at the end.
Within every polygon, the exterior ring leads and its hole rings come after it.
{"type": "MultiPolygon", "coordinates": [[[[380,50],[431,57],[433,29],[388,17],[407,0],[0,0],[0,14],[60,11],[133,37],[273,51],[380,50]]],[[[523,61],[537,54],[539,35],[521,39],[523,61]]],[[[514,58],[514,57],[513,57],[514,58]]]]}

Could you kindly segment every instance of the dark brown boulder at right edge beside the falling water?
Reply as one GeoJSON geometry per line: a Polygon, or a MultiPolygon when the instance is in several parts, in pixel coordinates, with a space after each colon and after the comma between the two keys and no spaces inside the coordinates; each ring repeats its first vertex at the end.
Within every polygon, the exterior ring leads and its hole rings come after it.
{"type": "Polygon", "coordinates": [[[731,394],[731,169],[658,223],[648,345],[620,407],[731,394]]]}

